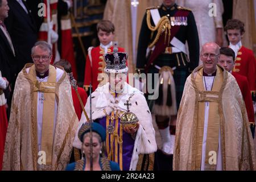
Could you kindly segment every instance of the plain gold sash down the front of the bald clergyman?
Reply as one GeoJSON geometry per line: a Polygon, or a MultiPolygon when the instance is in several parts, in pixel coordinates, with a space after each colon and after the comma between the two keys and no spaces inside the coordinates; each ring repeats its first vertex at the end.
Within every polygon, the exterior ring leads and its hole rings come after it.
{"type": "Polygon", "coordinates": [[[205,149],[205,170],[216,170],[216,164],[209,163],[209,158],[212,156],[211,151],[216,152],[216,162],[218,154],[218,137],[220,132],[220,113],[219,102],[221,101],[220,90],[223,83],[223,75],[220,68],[217,67],[216,78],[214,79],[212,91],[205,91],[203,85],[203,68],[196,75],[196,87],[200,90],[198,92],[198,115],[196,126],[196,161],[195,169],[200,170],[203,136],[204,136],[204,118],[205,118],[205,102],[209,102],[209,115],[207,126],[207,144],[205,149]]]}

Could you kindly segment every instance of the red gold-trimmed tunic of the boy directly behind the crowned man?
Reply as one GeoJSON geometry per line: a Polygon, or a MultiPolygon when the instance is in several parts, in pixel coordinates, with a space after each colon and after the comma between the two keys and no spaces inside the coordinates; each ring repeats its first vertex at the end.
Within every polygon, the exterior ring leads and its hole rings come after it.
{"type": "MultiPolygon", "coordinates": [[[[113,46],[108,48],[108,52],[113,52],[113,46]]],[[[118,47],[118,52],[125,52],[124,48],[118,47]]],[[[88,55],[85,63],[84,74],[84,88],[88,90],[90,82],[92,82],[92,92],[96,90],[101,80],[98,80],[98,75],[104,73],[105,61],[104,61],[104,49],[100,46],[89,48],[88,55]],[[91,59],[90,59],[91,57],[91,59]]]]}

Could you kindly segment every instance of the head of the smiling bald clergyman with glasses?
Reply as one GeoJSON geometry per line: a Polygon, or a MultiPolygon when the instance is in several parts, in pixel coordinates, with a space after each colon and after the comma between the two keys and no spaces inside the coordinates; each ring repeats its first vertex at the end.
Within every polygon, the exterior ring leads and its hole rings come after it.
{"type": "Polygon", "coordinates": [[[203,62],[204,72],[211,74],[216,71],[220,47],[214,42],[205,43],[200,53],[200,59],[203,62]]]}

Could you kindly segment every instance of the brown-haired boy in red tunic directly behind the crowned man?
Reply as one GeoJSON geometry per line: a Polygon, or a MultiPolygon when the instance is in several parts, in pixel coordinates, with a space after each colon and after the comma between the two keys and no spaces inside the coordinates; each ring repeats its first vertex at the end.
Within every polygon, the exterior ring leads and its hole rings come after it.
{"type": "MultiPolygon", "coordinates": [[[[97,24],[97,34],[100,40],[100,46],[89,47],[88,56],[85,63],[84,89],[88,91],[90,82],[92,82],[92,92],[98,87],[98,84],[104,78],[105,61],[104,55],[113,52],[114,24],[109,20],[101,20],[97,24]]],[[[125,49],[118,47],[118,52],[125,52],[125,49]]],[[[104,81],[101,82],[104,84],[104,81]]]]}

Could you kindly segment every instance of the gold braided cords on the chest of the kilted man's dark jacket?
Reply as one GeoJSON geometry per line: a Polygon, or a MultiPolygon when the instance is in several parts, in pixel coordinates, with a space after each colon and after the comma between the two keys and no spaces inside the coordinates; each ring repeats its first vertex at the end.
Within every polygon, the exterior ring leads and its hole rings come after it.
{"type": "MultiPolygon", "coordinates": [[[[171,24],[170,24],[170,20],[168,19],[167,16],[163,16],[158,24],[156,24],[155,27],[152,26],[151,22],[150,22],[150,10],[147,10],[147,27],[149,30],[151,30],[152,32],[158,30],[158,33],[155,36],[154,41],[148,46],[148,48],[152,48],[156,42],[158,42],[160,35],[162,34],[163,31],[165,31],[165,34],[167,36],[167,30],[168,30],[168,43],[170,42],[170,36],[171,36],[171,24]]],[[[164,39],[164,43],[166,42],[166,36],[164,39]]]]}

